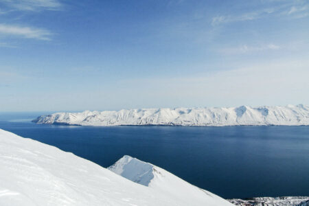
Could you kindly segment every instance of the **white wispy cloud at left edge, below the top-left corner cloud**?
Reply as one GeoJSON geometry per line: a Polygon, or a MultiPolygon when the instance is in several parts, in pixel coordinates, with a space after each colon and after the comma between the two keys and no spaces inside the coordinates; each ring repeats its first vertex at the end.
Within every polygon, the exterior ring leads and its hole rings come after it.
{"type": "Polygon", "coordinates": [[[35,27],[21,27],[16,25],[0,24],[0,34],[5,36],[19,36],[22,38],[34,38],[43,41],[51,40],[52,33],[48,30],[35,27]]]}

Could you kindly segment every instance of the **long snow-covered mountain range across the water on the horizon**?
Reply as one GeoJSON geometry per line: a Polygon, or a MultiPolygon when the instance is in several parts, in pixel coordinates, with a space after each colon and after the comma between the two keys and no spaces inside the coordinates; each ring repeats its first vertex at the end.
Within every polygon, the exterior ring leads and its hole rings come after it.
{"type": "Polygon", "coordinates": [[[82,126],[119,125],[309,125],[309,106],[239,106],[229,108],[146,108],[120,111],[84,111],[42,115],[38,124],[82,126]]]}

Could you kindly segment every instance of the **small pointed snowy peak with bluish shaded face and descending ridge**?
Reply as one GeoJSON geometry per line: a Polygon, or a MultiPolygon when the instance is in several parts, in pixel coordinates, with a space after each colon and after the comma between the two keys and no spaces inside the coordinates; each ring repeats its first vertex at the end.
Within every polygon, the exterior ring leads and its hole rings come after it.
{"type": "Polygon", "coordinates": [[[130,181],[146,185],[152,190],[160,191],[172,198],[181,200],[184,205],[192,205],[192,200],[196,205],[216,205],[218,202],[222,206],[229,205],[229,203],[222,201],[219,196],[191,185],[156,165],[127,155],[111,165],[108,170],[124,176],[130,181]],[[205,204],[205,199],[207,199],[207,204],[205,204]]]}

